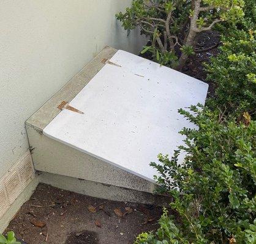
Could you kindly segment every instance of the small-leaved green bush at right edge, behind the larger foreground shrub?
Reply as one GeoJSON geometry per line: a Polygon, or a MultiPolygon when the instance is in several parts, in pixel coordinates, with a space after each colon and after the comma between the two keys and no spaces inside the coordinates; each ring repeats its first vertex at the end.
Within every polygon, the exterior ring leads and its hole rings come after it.
{"type": "Polygon", "coordinates": [[[220,54],[206,65],[208,80],[216,83],[215,96],[208,106],[241,114],[248,111],[255,118],[256,107],[256,31],[233,29],[222,36],[220,54]]]}

